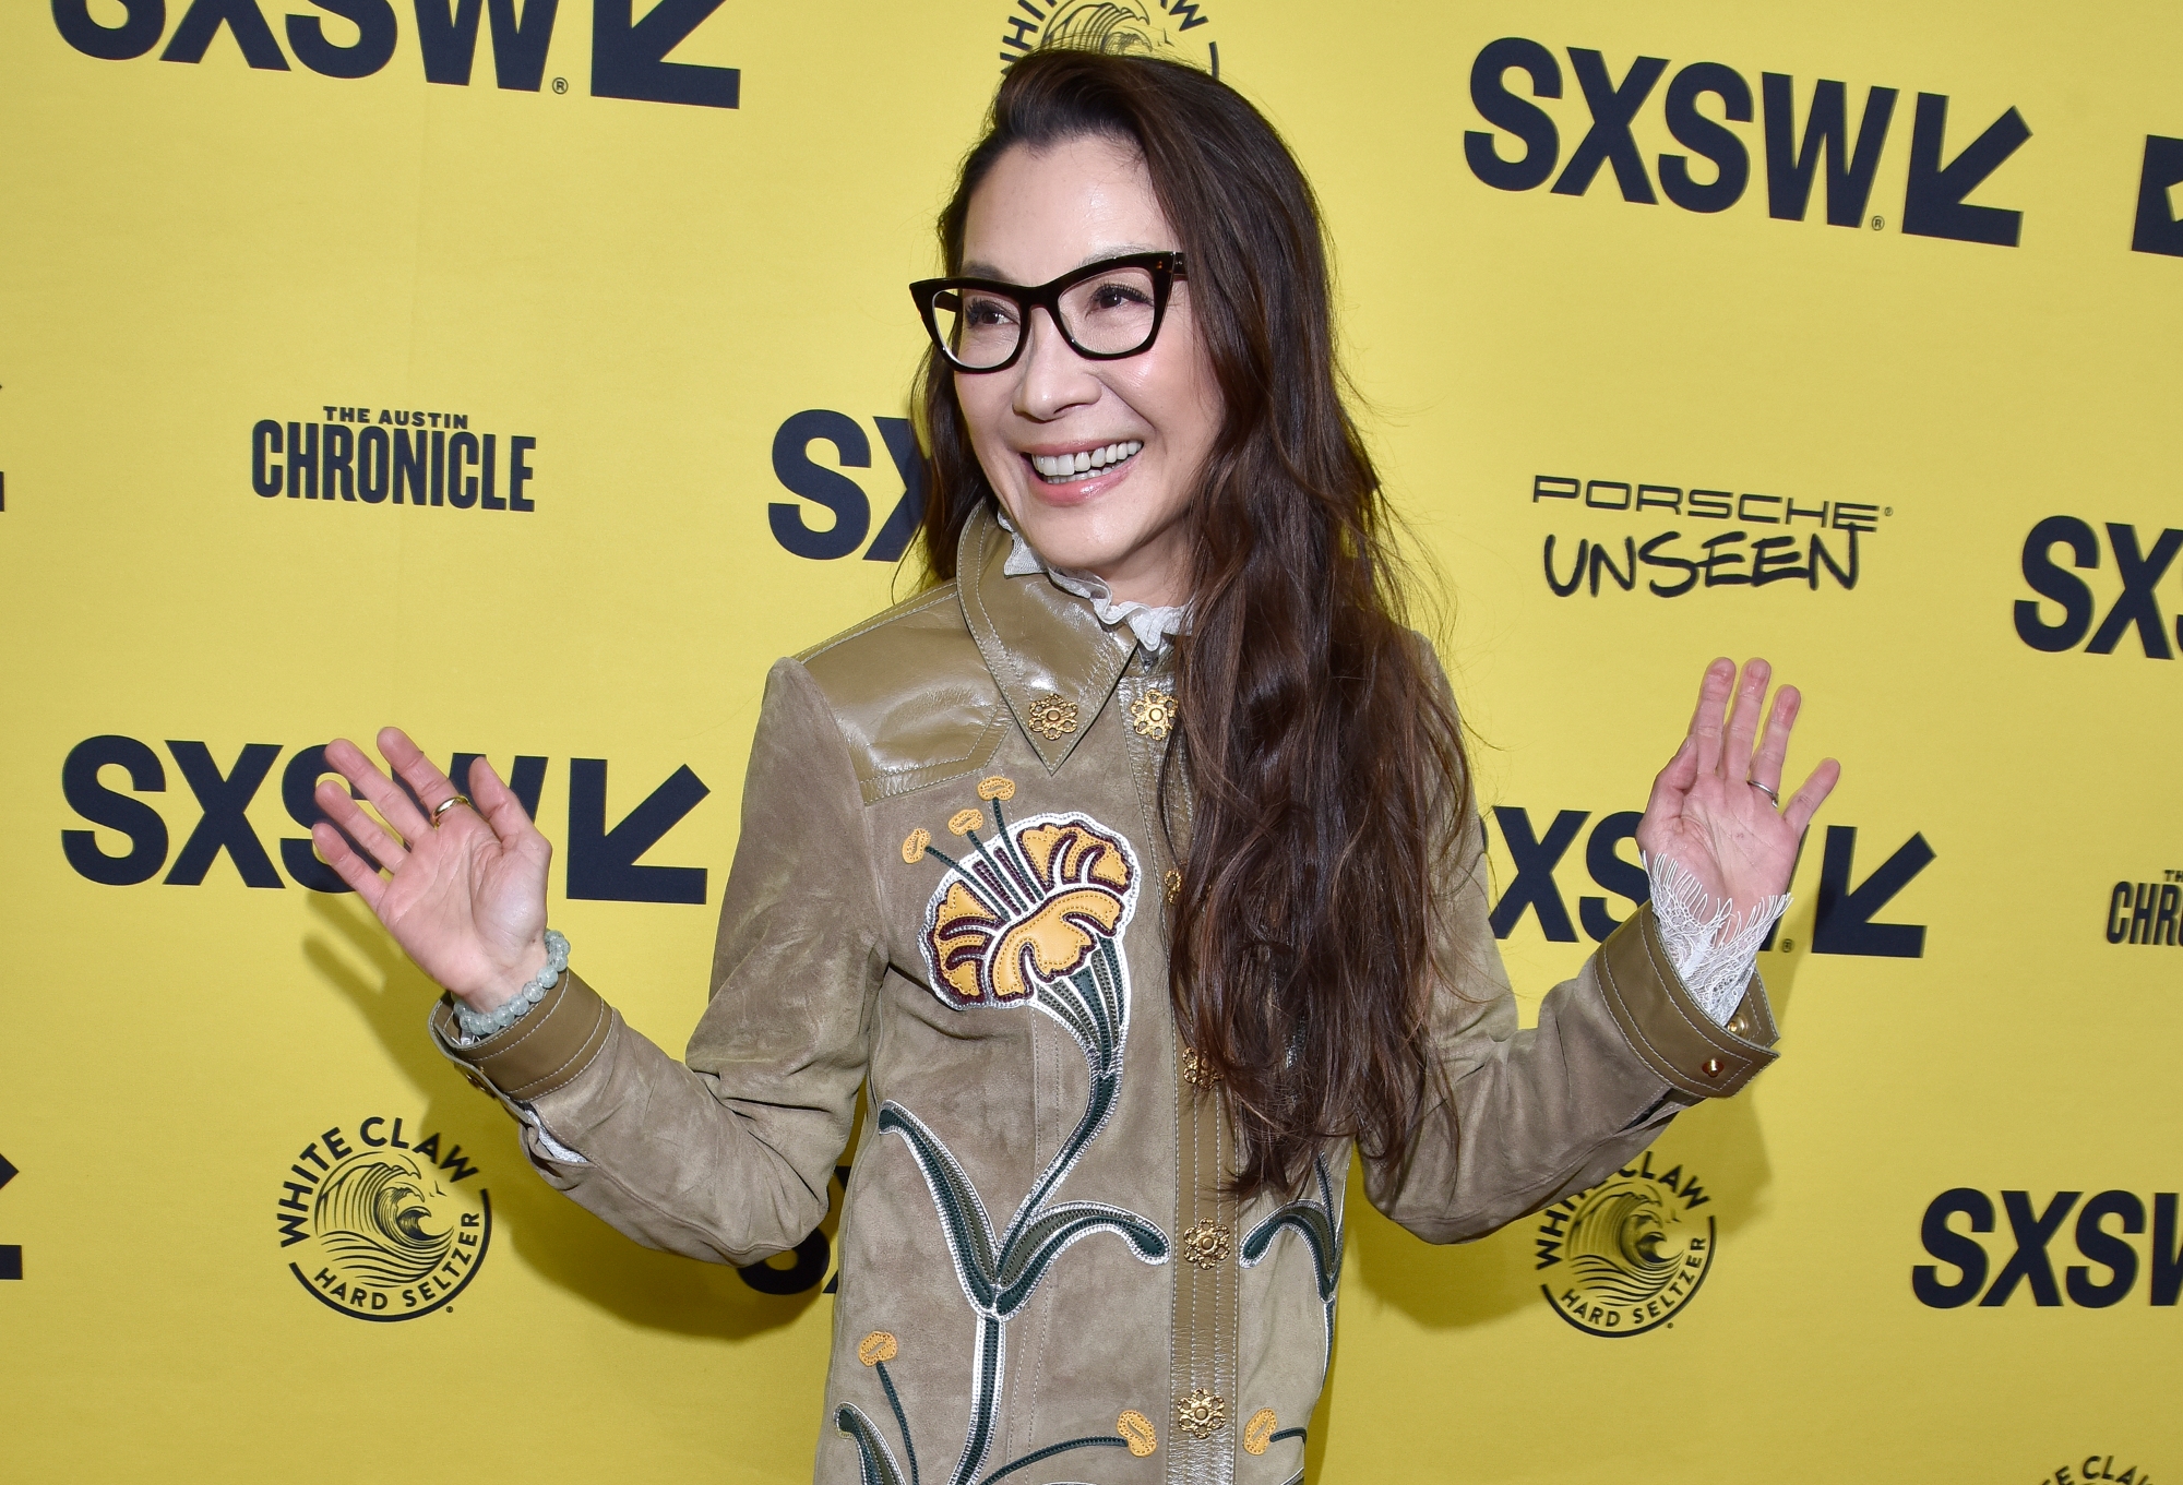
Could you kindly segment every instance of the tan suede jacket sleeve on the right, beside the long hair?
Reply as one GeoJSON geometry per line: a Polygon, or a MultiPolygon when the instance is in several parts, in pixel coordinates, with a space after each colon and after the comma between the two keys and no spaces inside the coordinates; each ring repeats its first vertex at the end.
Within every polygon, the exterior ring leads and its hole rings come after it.
{"type": "Polygon", "coordinates": [[[1519,1029],[1487,922],[1484,832],[1467,812],[1443,898],[1430,1011],[1441,1079],[1401,1160],[1364,1155],[1371,1203],[1428,1243],[1467,1243],[1600,1184],[1701,1098],[1775,1059],[1757,972],[1727,1024],[1692,1000],[1653,906],[1633,913],[1519,1029]]]}

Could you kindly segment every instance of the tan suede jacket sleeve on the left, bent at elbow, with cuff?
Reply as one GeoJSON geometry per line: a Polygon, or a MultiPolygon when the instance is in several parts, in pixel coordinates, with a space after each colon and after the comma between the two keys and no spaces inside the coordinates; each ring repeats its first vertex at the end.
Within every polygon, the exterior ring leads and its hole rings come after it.
{"type": "Polygon", "coordinates": [[[882,974],[849,749],[810,673],[782,660],[688,1059],[631,1031],[574,972],[493,1037],[458,1046],[445,1002],[432,1033],[474,1083],[530,1114],[524,1151],[548,1184],[646,1247],[749,1264],[827,1212],[882,974]]]}

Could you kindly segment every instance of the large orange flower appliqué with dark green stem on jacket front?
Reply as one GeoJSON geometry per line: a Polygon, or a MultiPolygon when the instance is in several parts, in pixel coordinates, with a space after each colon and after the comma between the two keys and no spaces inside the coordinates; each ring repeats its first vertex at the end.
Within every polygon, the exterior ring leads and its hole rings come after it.
{"type": "MultiPolygon", "coordinates": [[[[1011,780],[982,780],[978,797],[985,810],[961,810],[947,821],[947,830],[963,836],[967,850],[954,856],[937,852],[926,830],[910,832],[902,843],[906,863],[917,863],[928,852],[947,863],[926,908],[921,937],[932,994],[963,1013],[1028,1007],[1054,1018],[1083,1050],[1092,1090],[1076,1129],[1000,1232],[947,1144],[899,1103],[888,1098],[880,1105],[880,1133],[902,1136],[917,1160],[932,1190],[963,1297],[978,1315],[969,1430],[950,1485],[971,1485],[980,1476],[1000,1413],[1009,1321],[1030,1304],[1054,1260],[1096,1232],[1120,1236],[1148,1264],[1161,1264],[1170,1254],[1168,1236],[1135,1212],[1105,1201],[1052,1199],[1105,1127],[1122,1090],[1129,970],[1120,939],[1137,906],[1137,858],[1118,832],[1083,815],[1033,815],[1009,823],[1002,806],[1015,797],[1011,780]],[[982,832],[987,815],[991,830],[982,832]]],[[[906,1485],[919,1474],[910,1422],[886,1376],[895,1339],[886,1341],[878,1347],[886,1356],[871,1365],[902,1430],[908,1468],[895,1459],[862,1409],[843,1404],[834,1417],[856,1439],[867,1485],[906,1485]]],[[[1067,1439],[1037,1452],[1043,1457],[1100,1446],[1142,1450],[1142,1441],[1118,1424],[1113,1435],[1067,1439]]],[[[1028,1463],[1028,1457],[1013,1463],[1028,1463]]]]}

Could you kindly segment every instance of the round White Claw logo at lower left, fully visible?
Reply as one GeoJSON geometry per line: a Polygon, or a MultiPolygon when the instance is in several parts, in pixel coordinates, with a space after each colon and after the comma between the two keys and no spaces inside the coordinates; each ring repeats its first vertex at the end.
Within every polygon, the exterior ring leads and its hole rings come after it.
{"type": "Polygon", "coordinates": [[[493,1240],[493,1197],[461,1144],[373,1114],[319,1131],[282,1173],[282,1258],[319,1304],[417,1319],[454,1302],[493,1240]]]}

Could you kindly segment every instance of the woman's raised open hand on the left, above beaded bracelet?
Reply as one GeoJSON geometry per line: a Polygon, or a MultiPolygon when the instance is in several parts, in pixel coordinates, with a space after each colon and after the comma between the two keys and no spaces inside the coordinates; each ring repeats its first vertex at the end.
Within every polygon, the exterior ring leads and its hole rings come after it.
{"type": "MultiPolygon", "coordinates": [[[[399,727],[382,727],[378,742],[426,810],[463,793],[399,727]]],[[[546,867],[552,863],[552,845],[515,793],[480,758],[469,767],[474,808],[456,804],[434,828],[347,738],[325,745],[325,762],[399,832],[399,839],[389,834],[349,791],[325,780],[314,795],[319,808],[378,858],[384,876],[341,830],[319,823],[310,839],[325,863],[378,913],[417,967],[469,1009],[491,1011],[511,1000],[546,967],[546,867]]]]}

